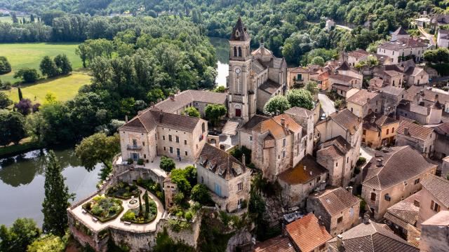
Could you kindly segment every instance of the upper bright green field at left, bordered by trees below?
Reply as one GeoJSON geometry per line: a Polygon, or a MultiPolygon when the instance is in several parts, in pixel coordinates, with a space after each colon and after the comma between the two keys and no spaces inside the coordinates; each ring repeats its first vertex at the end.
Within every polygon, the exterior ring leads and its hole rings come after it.
{"type": "MultiPolygon", "coordinates": [[[[8,17],[6,17],[8,18],[8,17]]],[[[73,69],[82,66],[81,59],[75,54],[78,43],[0,43],[0,56],[5,56],[11,63],[13,71],[0,76],[1,80],[18,82],[14,72],[22,67],[31,67],[39,71],[39,64],[44,56],[55,57],[58,54],[65,54],[72,62],[73,69]]]]}

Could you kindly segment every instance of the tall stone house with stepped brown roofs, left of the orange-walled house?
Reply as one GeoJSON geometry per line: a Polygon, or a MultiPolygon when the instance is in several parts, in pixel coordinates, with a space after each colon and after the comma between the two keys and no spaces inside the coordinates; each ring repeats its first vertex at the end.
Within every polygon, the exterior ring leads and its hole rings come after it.
{"type": "Polygon", "coordinates": [[[348,109],[330,114],[315,127],[317,162],[329,171],[328,184],[346,187],[360,155],[362,120],[348,109]]]}

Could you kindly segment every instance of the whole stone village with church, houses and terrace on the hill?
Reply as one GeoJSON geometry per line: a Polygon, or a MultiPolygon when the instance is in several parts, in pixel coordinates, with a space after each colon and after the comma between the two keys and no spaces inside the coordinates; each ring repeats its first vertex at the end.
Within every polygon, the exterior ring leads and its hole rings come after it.
{"type": "MultiPolygon", "coordinates": [[[[438,29],[446,16],[417,25],[438,29]]],[[[326,27],[333,26],[328,20],[326,27]]],[[[448,46],[447,34],[438,31],[439,46],[448,46]]],[[[109,234],[140,251],[166,230],[196,248],[202,209],[243,219],[257,178],[272,185],[259,192],[263,218],[281,235],[260,242],[251,228],[229,224],[235,235],[227,251],[447,251],[449,93],[429,84],[438,76],[421,64],[435,42],[400,27],[376,53],[341,52],[323,66],[288,68],[263,39],[253,51],[250,40],[239,18],[229,38],[224,92],[177,92],[126,119],[112,174],[67,209],[74,238],[105,251],[109,234]],[[310,82],[316,83],[313,106],[264,113],[270,99],[310,82]],[[210,105],[227,112],[208,122],[210,105]],[[184,112],[191,108],[200,116],[184,112]],[[161,169],[167,160],[176,169],[161,169]],[[182,199],[188,193],[180,174],[193,168],[196,174],[186,178],[207,188],[201,195],[210,195],[208,204],[199,206],[196,193],[182,199]],[[133,184],[141,193],[138,200],[123,197],[127,211],[112,220],[95,217],[92,202],[133,184]],[[145,198],[149,188],[162,190],[150,189],[145,198]],[[151,221],[128,218],[141,197],[154,201],[151,221]]]]}

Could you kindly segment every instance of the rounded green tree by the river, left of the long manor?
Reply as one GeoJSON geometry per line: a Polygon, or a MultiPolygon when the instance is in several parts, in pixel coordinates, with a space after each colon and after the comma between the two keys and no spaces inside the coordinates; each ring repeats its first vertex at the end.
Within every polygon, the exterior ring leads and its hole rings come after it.
{"type": "Polygon", "coordinates": [[[109,169],[112,168],[111,160],[120,152],[120,138],[118,134],[107,137],[103,132],[86,137],[76,145],[76,157],[88,171],[93,170],[98,162],[102,162],[109,169]]]}

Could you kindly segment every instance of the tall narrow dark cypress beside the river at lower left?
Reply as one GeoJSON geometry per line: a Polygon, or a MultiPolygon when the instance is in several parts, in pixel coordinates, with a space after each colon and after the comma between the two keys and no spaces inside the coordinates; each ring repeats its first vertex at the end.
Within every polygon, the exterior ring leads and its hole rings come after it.
{"type": "Polygon", "coordinates": [[[45,197],[42,203],[42,230],[62,237],[68,228],[67,207],[69,200],[74,200],[74,194],[69,193],[62,176],[62,168],[53,151],[48,151],[45,171],[45,197]]]}

